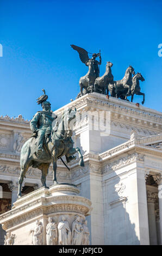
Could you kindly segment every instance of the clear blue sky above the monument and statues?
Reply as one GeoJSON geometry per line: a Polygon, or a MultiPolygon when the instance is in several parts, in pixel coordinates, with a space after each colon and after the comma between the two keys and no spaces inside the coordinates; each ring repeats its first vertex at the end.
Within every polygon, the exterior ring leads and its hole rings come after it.
{"type": "Polygon", "coordinates": [[[42,88],[53,111],[75,99],[88,68],[70,44],[101,49],[101,75],[111,61],[114,80],[132,65],[145,78],[144,106],[162,111],[161,10],[161,0],[0,0],[0,115],[32,118],[42,88]]]}

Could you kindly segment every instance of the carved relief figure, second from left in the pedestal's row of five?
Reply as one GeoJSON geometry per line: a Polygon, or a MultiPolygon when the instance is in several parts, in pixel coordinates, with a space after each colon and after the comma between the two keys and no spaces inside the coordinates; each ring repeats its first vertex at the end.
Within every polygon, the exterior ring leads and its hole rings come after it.
{"type": "Polygon", "coordinates": [[[46,242],[47,245],[57,245],[58,242],[57,223],[53,222],[51,217],[48,218],[46,226],[46,242]]]}

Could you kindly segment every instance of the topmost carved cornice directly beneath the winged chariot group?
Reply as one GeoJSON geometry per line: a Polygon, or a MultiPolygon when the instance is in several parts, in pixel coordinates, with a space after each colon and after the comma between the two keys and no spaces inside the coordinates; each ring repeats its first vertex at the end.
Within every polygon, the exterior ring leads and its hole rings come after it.
{"type": "Polygon", "coordinates": [[[144,106],[136,107],[135,103],[127,102],[120,99],[115,99],[114,97],[109,97],[109,100],[105,97],[105,95],[99,95],[97,93],[86,94],[83,97],[74,100],[68,103],[63,108],[58,109],[55,113],[62,111],[66,107],[76,107],[77,109],[86,109],[88,107],[100,109],[100,110],[107,110],[117,114],[117,119],[123,119],[126,117],[128,120],[128,116],[131,118],[132,121],[136,123],[145,123],[145,126],[155,127],[162,124],[162,114],[161,112],[155,111],[154,109],[149,109],[144,106]]]}

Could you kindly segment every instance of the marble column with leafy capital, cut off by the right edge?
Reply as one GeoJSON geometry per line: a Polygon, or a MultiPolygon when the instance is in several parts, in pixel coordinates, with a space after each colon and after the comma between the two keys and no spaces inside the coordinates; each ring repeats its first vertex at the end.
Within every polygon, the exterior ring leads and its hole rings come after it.
{"type": "Polygon", "coordinates": [[[159,199],[159,225],[160,225],[160,245],[162,245],[162,177],[160,174],[153,176],[154,181],[158,185],[158,199],[159,199]]]}

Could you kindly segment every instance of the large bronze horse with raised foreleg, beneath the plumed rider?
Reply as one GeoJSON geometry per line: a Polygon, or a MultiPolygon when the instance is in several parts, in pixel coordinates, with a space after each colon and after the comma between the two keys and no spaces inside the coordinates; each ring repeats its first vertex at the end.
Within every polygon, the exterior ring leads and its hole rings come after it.
{"type": "Polygon", "coordinates": [[[51,137],[48,143],[43,145],[43,152],[41,155],[36,155],[35,152],[35,138],[32,137],[23,145],[20,156],[21,173],[18,180],[18,197],[21,197],[21,187],[24,176],[30,166],[39,168],[42,171],[41,182],[42,186],[46,186],[46,176],[50,164],[53,164],[53,182],[57,184],[56,170],[57,160],[66,155],[72,157],[73,154],[78,153],[79,165],[84,166],[83,156],[79,148],[73,148],[72,126],[74,118],[76,117],[76,109],[67,109],[62,115],[55,119],[56,124],[52,129],[51,137]]]}

